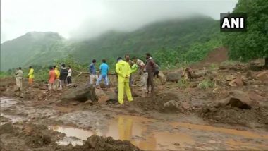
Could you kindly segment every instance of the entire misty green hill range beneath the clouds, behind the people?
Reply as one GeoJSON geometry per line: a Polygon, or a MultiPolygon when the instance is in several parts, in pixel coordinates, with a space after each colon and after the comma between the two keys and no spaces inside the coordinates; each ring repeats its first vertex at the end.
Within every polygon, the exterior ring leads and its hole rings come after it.
{"type": "Polygon", "coordinates": [[[64,40],[54,32],[28,32],[1,44],[1,70],[49,64],[54,59],[71,54],[78,61],[115,58],[125,53],[154,54],[159,49],[183,47],[187,51],[196,43],[219,37],[219,20],[195,17],[185,20],[165,20],[151,23],[133,32],[109,31],[94,39],[80,42],[64,40]]]}

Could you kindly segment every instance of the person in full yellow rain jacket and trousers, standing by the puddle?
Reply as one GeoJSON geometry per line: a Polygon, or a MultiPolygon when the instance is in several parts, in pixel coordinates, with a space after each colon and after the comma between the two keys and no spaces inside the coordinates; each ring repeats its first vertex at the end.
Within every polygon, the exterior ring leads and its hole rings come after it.
{"type": "Polygon", "coordinates": [[[118,75],[118,102],[123,104],[123,95],[126,91],[128,101],[133,101],[131,90],[129,87],[129,77],[131,68],[126,61],[123,61],[121,57],[117,59],[116,73],[118,75]]]}

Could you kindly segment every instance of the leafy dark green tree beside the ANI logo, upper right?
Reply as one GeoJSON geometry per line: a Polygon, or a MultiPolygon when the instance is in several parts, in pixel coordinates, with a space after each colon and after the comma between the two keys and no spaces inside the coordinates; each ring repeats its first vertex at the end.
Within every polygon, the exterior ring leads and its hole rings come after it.
{"type": "Polygon", "coordinates": [[[229,58],[249,61],[265,57],[268,66],[268,1],[239,0],[233,13],[247,13],[247,32],[227,32],[229,58]]]}

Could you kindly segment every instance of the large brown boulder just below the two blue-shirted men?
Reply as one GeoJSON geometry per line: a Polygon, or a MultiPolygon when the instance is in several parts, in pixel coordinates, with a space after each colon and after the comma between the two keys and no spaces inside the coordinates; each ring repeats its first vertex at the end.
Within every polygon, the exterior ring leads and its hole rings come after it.
{"type": "Polygon", "coordinates": [[[88,83],[83,83],[78,85],[78,87],[71,87],[66,92],[63,92],[61,99],[77,100],[80,102],[85,102],[88,99],[92,101],[97,101],[98,97],[95,94],[95,87],[89,85],[88,83]]]}

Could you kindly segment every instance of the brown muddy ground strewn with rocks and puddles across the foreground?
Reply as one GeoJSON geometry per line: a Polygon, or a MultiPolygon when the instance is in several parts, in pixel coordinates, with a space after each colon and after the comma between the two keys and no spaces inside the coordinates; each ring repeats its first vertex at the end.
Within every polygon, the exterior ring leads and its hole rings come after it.
{"type": "Polygon", "coordinates": [[[248,64],[193,71],[199,78],[156,79],[154,97],[140,97],[135,86],[133,102],[123,105],[114,100],[113,75],[110,90],[95,90],[97,101],[86,102],[62,95],[84,85],[87,75],[55,92],[44,83],[28,87],[26,81],[20,92],[13,78],[1,79],[0,149],[267,150],[268,71],[252,71],[248,64]],[[200,86],[207,80],[212,87],[200,86]]]}

